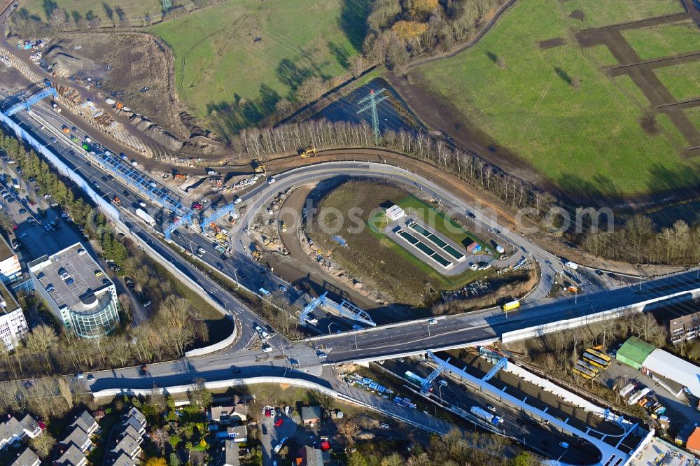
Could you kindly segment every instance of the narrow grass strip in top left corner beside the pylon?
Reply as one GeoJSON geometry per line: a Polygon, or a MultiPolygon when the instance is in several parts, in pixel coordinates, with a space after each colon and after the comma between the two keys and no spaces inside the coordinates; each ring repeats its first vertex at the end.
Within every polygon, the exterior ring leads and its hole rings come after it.
{"type": "MultiPolygon", "coordinates": [[[[160,15],[162,6],[160,0],[27,0],[22,2],[20,6],[27,8],[31,15],[36,15],[41,20],[48,20],[50,14],[50,4],[55,3],[58,8],[66,10],[72,16],[73,11],[77,11],[80,16],[85,17],[85,13],[92,12],[99,16],[103,22],[109,21],[109,16],[106,13],[104,5],[108,5],[112,10],[120,6],[127,17],[132,19],[146,17],[146,14],[151,17],[160,15]],[[49,10],[48,13],[46,10],[49,10]]],[[[116,13],[113,15],[114,20],[118,21],[116,13]]]]}

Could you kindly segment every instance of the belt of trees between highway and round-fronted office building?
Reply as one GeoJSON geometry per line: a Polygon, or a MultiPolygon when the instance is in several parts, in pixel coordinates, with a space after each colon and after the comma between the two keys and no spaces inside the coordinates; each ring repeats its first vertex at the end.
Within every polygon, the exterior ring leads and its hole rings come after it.
{"type": "Polygon", "coordinates": [[[116,334],[99,339],[80,339],[52,321],[48,308],[36,295],[25,299],[25,310],[36,309],[51,325],[38,325],[14,351],[0,345],[0,374],[18,379],[22,374],[66,374],[79,370],[108,369],[181,357],[195,341],[208,341],[200,314],[175,289],[172,277],[158,273],[155,265],[130,239],[118,237],[106,218],[89,201],[71,190],[65,181],[27,150],[13,136],[0,134],[0,153],[18,162],[25,176],[33,176],[41,192],[51,192],[52,200],[65,206],[76,225],[97,239],[103,257],[120,264],[123,274],[134,277],[136,290],[155,303],[157,311],[146,323],[132,327],[131,298],[118,296],[122,325],[116,334]],[[164,331],[165,330],[165,331],[164,331]]]}

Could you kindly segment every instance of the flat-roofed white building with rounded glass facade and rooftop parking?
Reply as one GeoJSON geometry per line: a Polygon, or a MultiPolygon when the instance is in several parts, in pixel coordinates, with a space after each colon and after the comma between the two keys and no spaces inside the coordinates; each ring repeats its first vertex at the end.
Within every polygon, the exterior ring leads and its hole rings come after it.
{"type": "Polygon", "coordinates": [[[117,290],[80,243],[29,262],[36,292],[81,338],[99,338],[119,323],[117,290]]]}

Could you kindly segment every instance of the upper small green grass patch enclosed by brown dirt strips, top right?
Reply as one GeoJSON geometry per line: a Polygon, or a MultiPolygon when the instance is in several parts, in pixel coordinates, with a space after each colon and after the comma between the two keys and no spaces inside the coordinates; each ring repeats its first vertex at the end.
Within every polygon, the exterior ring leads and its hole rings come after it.
{"type": "Polygon", "coordinates": [[[700,51],[700,30],[691,20],[626,29],[622,36],[641,59],[700,51]]]}

